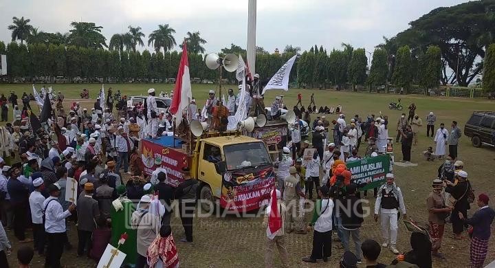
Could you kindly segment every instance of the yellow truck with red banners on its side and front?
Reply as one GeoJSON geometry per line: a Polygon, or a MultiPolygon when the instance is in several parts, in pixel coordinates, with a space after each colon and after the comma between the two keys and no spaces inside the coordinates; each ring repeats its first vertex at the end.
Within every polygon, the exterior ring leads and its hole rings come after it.
{"type": "MultiPolygon", "coordinates": [[[[233,133],[232,133],[233,134],[233,133]]],[[[164,168],[170,181],[182,181],[181,169],[188,166],[198,179],[201,208],[212,211],[250,211],[270,200],[275,172],[267,146],[246,135],[197,137],[181,142],[174,137],[143,139],[144,172],[164,168]]],[[[175,184],[176,184],[175,183],[175,184]]],[[[174,184],[174,183],[173,183],[174,184]]]]}

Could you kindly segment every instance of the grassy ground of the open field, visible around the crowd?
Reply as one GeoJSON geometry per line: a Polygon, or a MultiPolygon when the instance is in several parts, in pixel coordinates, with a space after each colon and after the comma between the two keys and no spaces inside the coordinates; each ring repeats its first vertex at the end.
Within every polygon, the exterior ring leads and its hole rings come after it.
{"type": "MultiPolygon", "coordinates": [[[[83,88],[90,89],[92,98],[95,98],[101,85],[54,85],[56,91],[62,91],[66,98],[77,98],[83,88]]],[[[173,85],[167,84],[125,84],[125,85],[105,85],[105,89],[112,87],[113,89],[120,89],[122,94],[131,95],[146,95],[146,90],[153,87],[159,91],[170,91],[173,89],[173,85]]],[[[229,87],[234,88],[236,86],[225,86],[225,89],[229,87]]],[[[40,85],[36,85],[36,88],[41,88],[40,85]]],[[[208,89],[213,89],[214,85],[192,85],[192,95],[199,100],[198,107],[202,106],[203,101],[206,99],[208,89]]],[[[9,93],[9,91],[16,91],[18,96],[21,96],[23,91],[28,93],[32,91],[31,85],[0,85],[0,93],[9,93]]],[[[428,212],[426,209],[426,198],[431,190],[431,182],[437,177],[437,168],[441,165],[441,161],[428,162],[423,159],[422,151],[428,146],[434,146],[432,138],[426,137],[426,122],[424,119],[428,112],[433,111],[437,115],[436,127],[439,127],[440,122],[444,122],[450,130],[450,122],[456,120],[459,122],[459,126],[463,129],[463,126],[472,111],[490,111],[494,110],[495,102],[488,100],[473,100],[464,98],[427,98],[423,96],[399,96],[391,94],[377,94],[377,93],[353,93],[342,91],[323,91],[323,90],[309,90],[309,89],[289,89],[287,92],[283,91],[269,91],[265,95],[265,104],[270,105],[274,96],[283,93],[285,96],[285,103],[288,107],[292,107],[296,104],[297,93],[303,94],[303,104],[309,104],[309,96],[311,93],[315,93],[315,100],[318,107],[328,106],[335,107],[340,104],[343,107],[344,113],[347,115],[348,120],[353,117],[354,114],[360,115],[365,118],[366,115],[374,113],[378,115],[382,111],[383,115],[388,115],[390,129],[393,129],[397,119],[399,118],[401,111],[388,110],[388,102],[397,101],[397,98],[401,98],[401,102],[404,107],[407,107],[411,102],[414,102],[417,106],[417,113],[423,119],[423,128],[419,133],[419,144],[412,148],[412,162],[419,164],[417,167],[394,167],[395,177],[397,185],[404,193],[404,199],[406,208],[408,210],[408,216],[419,221],[419,223],[426,223],[428,219],[428,212]]],[[[226,93],[226,91],[225,91],[226,93]]],[[[91,102],[86,103],[92,105],[91,102]]],[[[404,111],[408,113],[408,111],[404,111]]],[[[311,115],[312,117],[316,115],[311,115]]],[[[11,118],[11,115],[10,117],[11,118]]],[[[336,115],[327,115],[329,120],[336,118],[336,115]]],[[[389,131],[389,135],[395,136],[396,133],[389,131]]],[[[398,144],[397,144],[398,145],[398,144]]],[[[364,145],[362,146],[364,147],[364,145]]],[[[472,182],[472,186],[475,190],[475,194],[481,192],[487,192],[492,200],[495,200],[495,149],[489,146],[482,146],[481,148],[474,148],[470,144],[470,139],[467,137],[461,137],[459,144],[459,158],[465,164],[465,171],[469,174],[469,179],[472,182]]],[[[400,146],[395,146],[395,159],[396,161],[401,159],[400,146]]],[[[374,201],[373,197],[368,199],[371,203],[369,208],[373,209],[374,201]]],[[[491,202],[492,206],[494,201],[491,202]]],[[[472,209],[468,214],[472,215],[476,211],[476,203],[472,204],[472,209]]],[[[309,216],[306,216],[309,221],[309,216]]],[[[216,219],[214,217],[206,219],[195,219],[195,243],[192,245],[184,245],[177,242],[179,249],[179,258],[181,259],[181,267],[245,267],[248,265],[262,266],[263,254],[265,253],[265,228],[261,226],[262,219],[237,219],[233,217],[227,217],[226,219],[216,219]]],[[[172,221],[173,234],[175,240],[183,236],[183,230],[180,225],[180,220],[175,218],[172,221]]],[[[76,245],[77,235],[74,232],[75,226],[72,225],[72,230],[69,237],[76,245]]],[[[399,224],[399,238],[397,246],[399,251],[406,252],[410,250],[409,234],[402,223],[399,224]]],[[[452,226],[446,225],[445,235],[443,238],[443,246],[441,252],[445,254],[447,260],[440,261],[434,258],[433,267],[468,267],[469,266],[469,240],[454,241],[452,238],[452,226]]],[[[465,234],[467,236],[467,234],[465,234]]],[[[12,232],[9,233],[11,242],[15,246],[15,238],[12,232]]],[[[335,235],[334,235],[335,237],[335,235]]],[[[362,240],[366,238],[373,238],[381,243],[380,226],[373,221],[373,216],[369,216],[365,219],[361,230],[362,240]]],[[[331,261],[327,264],[319,263],[317,265],[307,265],[301,261],[301,258],[307,256],[311,252],[312,235],[307,234],[300,236],[296,234],[289,234],[286,236],[287,248],[289,250],[289,258],[291,260],[291,267],[337,267],[338,260],[342,255],[342,249],[332,249],[331,261]]],[[[491,238],[489,245],[489,254],[485,265],[495,259],[495,238],[491,238]]],[[[336,245],[336,243],[333,243],[336,245]]],[[[353,250],[353,244],[351,243],[351,250],[353,250]]],[[[91,262],[83,260],[82,258],[76,258],[76,253],[65,252],[63,257],[63,263],[68,267],[91,267],[91,262]],[[74,263],[78,263],[74,265],[74,263]]],[[[380,262],[390,263],[395,256],[391,254],[388,249],[382,249],[380,256],[380,262]]],[[[275,254],[276,263],[278,265],[278,254],[275,254]]],[[[42,265],[40,258],[36,257],[35,267],[42,265]]],[[[14,257],[10,256],[11,264],[14,262],[14,257]]],[[[361,265],[360,267],[364,267],[361,265]]]]}

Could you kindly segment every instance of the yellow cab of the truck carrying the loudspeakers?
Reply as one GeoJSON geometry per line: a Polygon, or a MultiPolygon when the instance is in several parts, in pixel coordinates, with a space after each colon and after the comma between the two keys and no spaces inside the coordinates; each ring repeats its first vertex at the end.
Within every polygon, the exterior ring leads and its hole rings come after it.
{"type": "Polygon", "coordinates": [[[218,199],[225,208],[228,201],[236,203],[236,194],[250,187],[258,188],[256,183],[265,184],[274,179],[267,147],[253,137],[232,135],[199,139],[194,158],[196,165],[192,164],[192,173],[201,181],[200,199],[210,201],[201,203],[206,211],[212,211],[211,205],[218,199]],[[267,175],[270,170],[273,176],[267,175]],[[241,189],[239,186],[247,187],[241,189]]]}

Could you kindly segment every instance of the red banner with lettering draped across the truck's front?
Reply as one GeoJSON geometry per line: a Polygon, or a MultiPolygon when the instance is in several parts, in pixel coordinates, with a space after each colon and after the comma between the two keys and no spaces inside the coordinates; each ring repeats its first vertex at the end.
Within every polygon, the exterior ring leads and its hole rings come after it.
{"type": "Polygon", "coordinates": [[[230,211],[250,211],[268,205],[270,192],[275,187],[273,168],[257,175],[225,172],[220,206],[230,211]]]}

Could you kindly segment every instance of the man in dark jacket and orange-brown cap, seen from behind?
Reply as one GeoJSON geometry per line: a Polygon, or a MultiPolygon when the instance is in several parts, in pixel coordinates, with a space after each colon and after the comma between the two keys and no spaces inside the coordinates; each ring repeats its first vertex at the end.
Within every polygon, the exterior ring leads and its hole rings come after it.
{"type": "Polygon", "coordinates": [[[95,230],[95,222],[100,218],[98,202],[93,199],[93,183],[84,184],[84,195],[78,198],[78,257],[83,256],[84,252],[91,250],[91,234],[95,230]]]}

